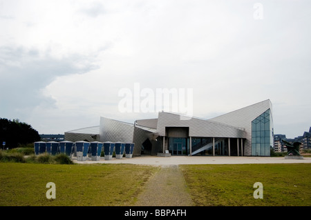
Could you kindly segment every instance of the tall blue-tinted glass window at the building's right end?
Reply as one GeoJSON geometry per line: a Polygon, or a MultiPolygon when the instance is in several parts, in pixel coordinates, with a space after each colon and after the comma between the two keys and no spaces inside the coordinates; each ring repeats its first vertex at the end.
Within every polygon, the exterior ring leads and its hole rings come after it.
{"type": "Polygon", "coordinates": [[[270,109],[252,121],[252,156],[270,156],[273,121],[270,109]]]}

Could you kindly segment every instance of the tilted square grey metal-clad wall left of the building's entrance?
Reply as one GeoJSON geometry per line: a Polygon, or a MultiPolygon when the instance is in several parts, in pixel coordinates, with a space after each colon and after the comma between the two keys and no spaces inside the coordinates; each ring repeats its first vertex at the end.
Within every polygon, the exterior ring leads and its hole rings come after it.
{"type": "MultiPolygon", "coordinates": [[[[100,117],[100,141],[133,143],[134,125],[100,117]]],[[[135,148],[134,148],[135,149],[135,148]]]]}

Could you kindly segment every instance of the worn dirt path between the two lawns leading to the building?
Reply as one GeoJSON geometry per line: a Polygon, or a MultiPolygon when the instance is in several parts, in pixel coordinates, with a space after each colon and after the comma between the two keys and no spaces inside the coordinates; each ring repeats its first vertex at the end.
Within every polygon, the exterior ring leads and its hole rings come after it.
{"type": "Polygon", "coordinates": [[[177,165],[162,166],[147,183],[135,206],[193,206],[177,165]]]}

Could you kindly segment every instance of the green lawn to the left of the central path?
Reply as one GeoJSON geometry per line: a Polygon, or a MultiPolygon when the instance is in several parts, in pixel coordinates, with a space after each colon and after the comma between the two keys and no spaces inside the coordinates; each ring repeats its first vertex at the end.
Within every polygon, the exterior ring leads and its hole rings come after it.
{"type": "Polygon", "coordinates": [[[0,163],[0,206],[130,206],[158,168],[0,163]],[[47,199],[46,183],[56,199],[47,199]]]}

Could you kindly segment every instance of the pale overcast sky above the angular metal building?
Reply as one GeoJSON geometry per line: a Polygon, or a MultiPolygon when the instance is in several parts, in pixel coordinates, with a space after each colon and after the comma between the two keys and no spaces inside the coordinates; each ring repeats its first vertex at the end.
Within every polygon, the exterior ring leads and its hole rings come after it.
{"type": "Polygon", "coordinates": [[[155,94],[192,90],[192,114],[206,119],[270,99],[274,133],[302,135],[311,126],[310,7],[0,0],[0,117],[39,134],[98,126],[101,116],[155,118],[120,111],[120,90],[134,94],[139,83],[155,94]]]}

